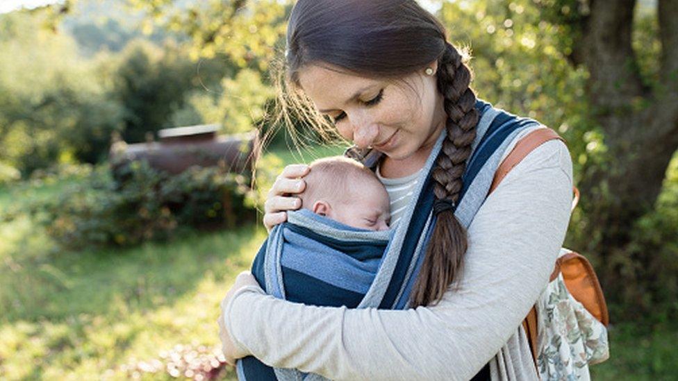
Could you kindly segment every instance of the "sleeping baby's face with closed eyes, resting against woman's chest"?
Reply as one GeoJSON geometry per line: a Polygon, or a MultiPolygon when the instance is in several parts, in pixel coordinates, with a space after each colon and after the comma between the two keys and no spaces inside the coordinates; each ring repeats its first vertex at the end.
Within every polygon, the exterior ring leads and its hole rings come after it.
{"type": "Polygon", "coordinates": [[[351,194],[339,195],[331,202],[327,217],[354,228],[388,230],[390,201],[379,184],[357,184],[351,194]]]}

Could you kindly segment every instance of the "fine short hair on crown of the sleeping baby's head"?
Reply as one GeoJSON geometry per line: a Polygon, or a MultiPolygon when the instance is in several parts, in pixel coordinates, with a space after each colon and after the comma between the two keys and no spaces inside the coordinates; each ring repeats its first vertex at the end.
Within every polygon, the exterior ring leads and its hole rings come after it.
{"type": "Polygon", "coordinates": [[[318,200],[351,198],[354,191],[362,187],[383,187],[370,169],[344,156],[318,159],[308,167],[311,167],[311,171],[304,176],[306,189],[299,194],[302,208],[310,209],[318,200]]]}

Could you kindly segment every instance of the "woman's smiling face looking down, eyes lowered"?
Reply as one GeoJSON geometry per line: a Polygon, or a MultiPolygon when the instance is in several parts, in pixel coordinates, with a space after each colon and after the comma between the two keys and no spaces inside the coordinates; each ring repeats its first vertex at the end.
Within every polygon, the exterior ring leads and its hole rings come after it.
{"type": "Polygon", "coordinates": [[[395,160],[428,155],[446,117],[435,75],[422,69],[402,79],[365,78],[318,65],[299,71],[304,92],[345,139],[395,160]]]}

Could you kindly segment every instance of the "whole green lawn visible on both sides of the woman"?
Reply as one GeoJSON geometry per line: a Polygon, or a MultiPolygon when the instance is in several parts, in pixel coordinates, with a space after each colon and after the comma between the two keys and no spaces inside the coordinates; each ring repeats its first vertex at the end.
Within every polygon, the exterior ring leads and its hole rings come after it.
{"type": "MultiPolygon", "coordinates": [[[[285,163],[340,153],[289,153],[285,163]]],[[[269,153],[270,155],[270,153],[269,153]]],[[[62,183],[0,189],[0,212],[49,197],[62,183]]],[[[194,232],[166,244],[60,251],[27,217],[0,225],[0,379],[127,379],[125,365],[176,344],[217,346],[218,303],[265,238],[261,223],[194,232]]],[[[669,380],[678,374],[678,329],[611,330],[596,380],[669,380]]],[[[149,379],[167,379],[166,373],[149,379]]],[[[233,372],[226,375],[233,379],[233,372]]]]}

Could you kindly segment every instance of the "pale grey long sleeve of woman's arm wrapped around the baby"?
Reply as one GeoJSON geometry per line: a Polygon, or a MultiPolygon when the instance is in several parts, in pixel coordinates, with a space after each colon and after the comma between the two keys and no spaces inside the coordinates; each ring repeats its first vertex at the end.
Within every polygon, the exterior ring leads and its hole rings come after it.
{"type": "Polygon", "coordinates": [[[311,307],[250,287],[226,305],[229,332],[266,364],[333,379],[467,380],[515,333],[547,284],[571,189],[562,142],[530,153],[474,218],[463,280],[434,307],[311,307]]]}

